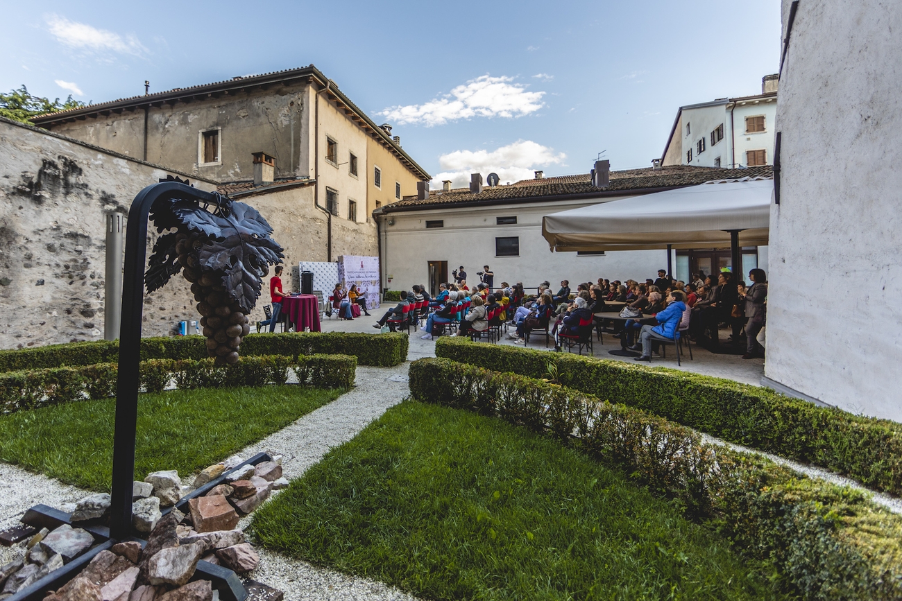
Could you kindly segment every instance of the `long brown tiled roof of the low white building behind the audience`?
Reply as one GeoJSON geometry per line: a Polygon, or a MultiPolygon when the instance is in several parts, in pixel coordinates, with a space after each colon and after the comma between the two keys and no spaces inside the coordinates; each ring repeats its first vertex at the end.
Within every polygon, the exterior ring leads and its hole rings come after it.
{"type": "Polygon", "coordinates": [[[627,169],[611,172],[611,184],[594,187],[588,173],[557,178],[524,179],[509,186],[483,187],[480,194],[469,188],[456,188],[448,192],[430,190],[429,197],[404,196],[391,205],[382,207],[382,213],[439,208],[451,205],[509,205],[517,202],[564,200],[574,197],[620,196],[643,194],[649,190],[695,186],[716,179],[771,178],[773,168],[750,167],[724,169],[674,165],[672,167],[627,169]]]}

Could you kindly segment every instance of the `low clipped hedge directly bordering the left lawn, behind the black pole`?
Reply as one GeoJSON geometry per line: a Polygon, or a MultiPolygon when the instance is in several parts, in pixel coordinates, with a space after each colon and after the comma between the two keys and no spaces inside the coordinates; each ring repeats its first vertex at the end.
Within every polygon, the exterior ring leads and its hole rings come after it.
{"type": "MultiPolygon", "coordinates": [[[[284,384],[291,369],[299,384],[319,388],[354,386],[357,358],[349,355],[242,357],[235,365],[216,366],[212,359],[151,359],[141,362],[140,386],[161,392],[174,378],[182,389],[284,384]]],[[[31,369],[0,374],[0,414],[85,398],[115,396],[118,366],[31,369]]]]}

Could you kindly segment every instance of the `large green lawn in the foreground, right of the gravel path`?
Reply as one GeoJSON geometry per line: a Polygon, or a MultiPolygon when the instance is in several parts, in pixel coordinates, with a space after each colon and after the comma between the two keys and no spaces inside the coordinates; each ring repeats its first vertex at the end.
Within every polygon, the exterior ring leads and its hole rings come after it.
{"type": "Polygon", "coordinates": [[[679,509],[498,419],[407,401],[253,520],[264,546],[436,599],[776,595],[679,509]]]}

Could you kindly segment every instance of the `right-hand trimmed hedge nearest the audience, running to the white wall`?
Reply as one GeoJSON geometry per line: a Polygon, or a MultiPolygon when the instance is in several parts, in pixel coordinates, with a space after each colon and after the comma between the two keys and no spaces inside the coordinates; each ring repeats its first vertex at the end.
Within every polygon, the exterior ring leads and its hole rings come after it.
{"type": "Polygon", "coordinates": [[[896,422],[819,407],[732,380],[570,353],[443,336],[436,355],[531,378],[545,378],[551,363],[568,387],[902,495],[902,424],[896,422]]]}

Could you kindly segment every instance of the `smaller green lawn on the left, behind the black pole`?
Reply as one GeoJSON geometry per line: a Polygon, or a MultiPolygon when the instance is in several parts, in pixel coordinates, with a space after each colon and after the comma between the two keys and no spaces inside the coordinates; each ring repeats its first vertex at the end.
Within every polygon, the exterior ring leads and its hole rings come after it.
{"type": "MultiPolygon", "coordinates": [[[[134,477],[188,476],[277,432],[342,394],[299,386],[172,390],[138,398],[134,477]]],[[[115,399],[0,415],[0,460],[106,491],[113,470],[115,399]]]]}

